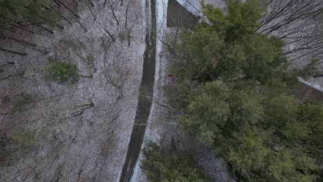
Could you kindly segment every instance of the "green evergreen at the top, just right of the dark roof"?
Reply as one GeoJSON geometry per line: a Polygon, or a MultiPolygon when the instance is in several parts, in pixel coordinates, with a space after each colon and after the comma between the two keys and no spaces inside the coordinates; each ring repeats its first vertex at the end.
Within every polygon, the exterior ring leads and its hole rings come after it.
{"type": "Polygon", "coordinates": [[[199,82],[243,78],[264,83],[282,77],[287,64],[282,42],[257,32],[262,17],[257,0],[227,3],[226,14],[204,6],[210,22],[200,23],[193,33],[181,34],[175,45],[179,59],[175,74],[199,82]]]}

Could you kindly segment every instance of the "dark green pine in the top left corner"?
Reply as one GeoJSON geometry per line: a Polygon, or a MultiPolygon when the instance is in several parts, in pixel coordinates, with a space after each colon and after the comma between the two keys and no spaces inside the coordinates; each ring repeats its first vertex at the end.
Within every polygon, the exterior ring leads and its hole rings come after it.
{"type": "MultiPolygon", "coordinates": [[[[34,32],[26,26],[35,26],[54,34],[52,28],[59,26],[57,12],[47,7],[47,0],[2,0],[0,1],[0,38],[11,39],[23,46],[31,46],[33,50],[48,52],[35,48],[37,44],[17,39],[8,36],[8,31],[12,32],[12,28],[19,28],[23,31],[33,34],[34,32]]],[[[61,27],[61,26],[59,26],[61,27]]],[[[8,50],[0,48],[3,52],[27,56],[26,52],[19,52],[16,50],[8,50]]]]}

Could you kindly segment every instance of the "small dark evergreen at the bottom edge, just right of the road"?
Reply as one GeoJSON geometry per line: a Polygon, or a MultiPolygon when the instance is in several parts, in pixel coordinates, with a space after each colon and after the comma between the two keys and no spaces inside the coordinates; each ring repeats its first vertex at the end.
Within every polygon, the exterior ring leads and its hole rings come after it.
{"type": "Polygon", "coordinates": [[[171,152],[150,143],[144,148],[144,156],[141,169],[151,182],[210,181],[204,169],[191,155],[171,152]]]}

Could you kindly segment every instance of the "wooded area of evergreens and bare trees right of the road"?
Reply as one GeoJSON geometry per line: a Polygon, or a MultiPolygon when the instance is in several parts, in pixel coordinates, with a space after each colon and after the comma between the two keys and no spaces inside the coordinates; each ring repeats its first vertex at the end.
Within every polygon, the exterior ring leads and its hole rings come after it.
{"type": "MultiPolygon", "coordinates": [[[[179,82],[168,88],[173,124],[221,156],[236,181],[322,181],[323,105],[293,90],[297,77],[322,73],[322,1],[229,0],[225,12],[202,6],[206,21],[166,43],[179,82]]],[[[219,180],[204,179],[203,170],[182,179],[198,159],[174,170],[167,160],[174,149],[162,150],[164,161],[146,147],[148,179],[219,180]]]]}

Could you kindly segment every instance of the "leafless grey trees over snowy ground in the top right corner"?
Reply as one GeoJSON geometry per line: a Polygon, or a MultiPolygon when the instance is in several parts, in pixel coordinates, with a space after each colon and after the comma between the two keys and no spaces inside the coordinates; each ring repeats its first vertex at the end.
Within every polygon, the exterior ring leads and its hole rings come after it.
{"type": "Polygon", "coordinates": [[[303,57],[320,57],[323,53],[323,1],[320,0],[268,0],[268,9],[262,19],[259,32],[271,34],[281,39],[291,50],[284,54],[294,54],[296,61],[303,57]]]}

